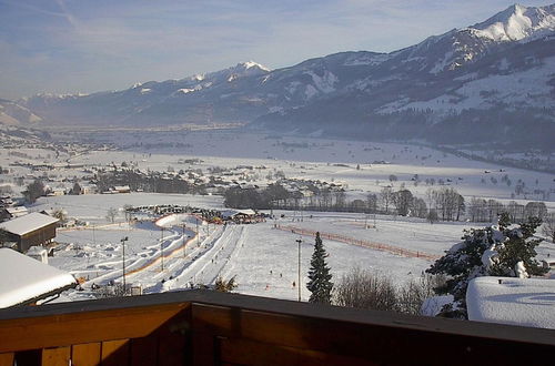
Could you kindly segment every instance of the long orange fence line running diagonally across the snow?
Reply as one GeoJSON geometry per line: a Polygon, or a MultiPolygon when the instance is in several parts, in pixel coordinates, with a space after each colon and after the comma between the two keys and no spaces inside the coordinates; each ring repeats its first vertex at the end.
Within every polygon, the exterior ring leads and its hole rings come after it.
{"type": "MultiPolygon", "coordinates": [[[[275,225],[275,228],[291,232],[293,234],[300,234],[300,235],[307,235],[307,236],[316,236],[316,231],[313,230],[307,230],[307,228],[301,228],[292,225],[275,225]]],[[[320,236],[322,238],[327,238],[334,242],[341,242],[341,243],[346,243],[346,244],[352,244],[352,245],[357,245],[357,246],[363,246],[363,247],[369,247],[372,250],[377,250],[382,252],[389,252],[397,255],[402,255],[408,258],[423,258],[427,261],[435,261],[438,260],[441,256],[436,254],[430,254],[425,252],[420,252],[420,251],[411,251],[411,250],[405,250],[403,247],[390,245],[390,244],[383,244],[383,243],[375,243],[375,242],[370,242],[365,240],[360,240],[360,238],[354,238],[345,235],[340,235],[340,234],[332,234],[332,233],[323,233],[320,232],[320,236]]]]}

